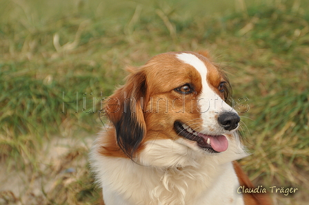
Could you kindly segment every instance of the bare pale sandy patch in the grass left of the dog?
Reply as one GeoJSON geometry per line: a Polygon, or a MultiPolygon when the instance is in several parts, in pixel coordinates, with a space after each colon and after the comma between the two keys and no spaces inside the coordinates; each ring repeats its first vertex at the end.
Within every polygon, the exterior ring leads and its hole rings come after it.
{"type": "Polygon", "coordinates": [[[88,174],[87,153],[94,138],[53,138],[38,153],[37,169],[26,165],[15,170],[0,164],[0,204],[48,204],[46,196],[57,194],[59,180],[66,186],[88,174]]]}

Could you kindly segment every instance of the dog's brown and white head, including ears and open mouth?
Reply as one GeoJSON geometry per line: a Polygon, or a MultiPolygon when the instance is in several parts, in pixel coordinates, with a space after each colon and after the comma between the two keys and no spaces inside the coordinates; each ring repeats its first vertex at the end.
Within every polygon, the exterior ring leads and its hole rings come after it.
{"type": "Polygon", "coordinates": [[[229,87],[205,54],[160,54],[132,70],[126,85],[110,96],[106,114],[130,157],[169,151],[217,155],[231,144],[240,146],[233,134],[240,118],[224,101],[229,87]]]}

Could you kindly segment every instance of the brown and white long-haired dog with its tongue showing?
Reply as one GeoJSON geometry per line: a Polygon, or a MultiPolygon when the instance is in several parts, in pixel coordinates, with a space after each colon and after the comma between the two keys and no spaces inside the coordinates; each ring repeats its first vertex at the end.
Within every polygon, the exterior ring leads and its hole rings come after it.
{"type": "Polygon", "coordinates": [[[106,100],[110,125],[90,161],[106,205],[271,204],[239,160],[239,116],[224,100],[226,75],[206,52],[159,54],[131,68],[106,100]]]}

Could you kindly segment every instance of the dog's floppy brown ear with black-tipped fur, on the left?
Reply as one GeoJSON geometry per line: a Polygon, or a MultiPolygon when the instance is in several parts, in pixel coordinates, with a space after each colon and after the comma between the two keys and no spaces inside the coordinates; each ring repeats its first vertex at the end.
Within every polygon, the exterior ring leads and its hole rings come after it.
{"type": "Polygon", "coordinates": [[[119,147],[132,158],[146,134],[143,109],[148,102],[148,91],[146,74],[132,69],[130,72],[126,84],[108,99],[106,114],[116,129],[119,147]]]}

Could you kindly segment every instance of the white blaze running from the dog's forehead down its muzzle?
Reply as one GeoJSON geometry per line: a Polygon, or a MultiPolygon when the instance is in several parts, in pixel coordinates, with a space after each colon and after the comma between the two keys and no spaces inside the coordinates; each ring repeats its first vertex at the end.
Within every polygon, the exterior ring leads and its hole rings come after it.
{"type": "Polygon", "coordinates": [[[197,69],[197,72],[201,75],[201,85],[202,91],[199,95],[199,106],[201,118],[203,119],[204,129],[209,129],[210,127],[219,127],[217,118],[215,116],[221,111],[233,111],[236,113],[232,107],[230,107],[226,102],[224,102],[221,97],[212,90],[207,81],[207,67],[203,61],[201,61],[194,54],[181,53],[177,54],[177,58],[183,63],[192,65],[197,69]]]}

